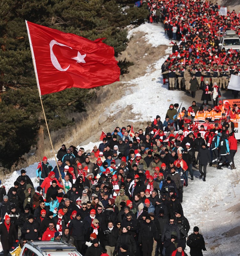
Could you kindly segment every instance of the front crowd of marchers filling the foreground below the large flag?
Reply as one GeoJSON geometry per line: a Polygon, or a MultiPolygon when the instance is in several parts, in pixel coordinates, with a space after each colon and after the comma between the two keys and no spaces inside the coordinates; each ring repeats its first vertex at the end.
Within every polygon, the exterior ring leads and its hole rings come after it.
{"type": "Polygon", "coordinates": [[[20,239],[17,249],[29,240],[64,240],[87,256],[186,255],[186,245],[190,255],[202,255],[203,236],[198,227],[189,236],[181,203],[189,174],[205,181],[208,163],[235,168],[237,144],[226,116],[238,110],[217,108],[220,120],[195,101],[181,111],[170,104],[164,122],[156,116],[145,131],[116,127],[87,152],[63,144],[54,168],[45,156],[38,165],[36,188],[21,170],[7,193],[0,188],[4,255],[20,239]]]}

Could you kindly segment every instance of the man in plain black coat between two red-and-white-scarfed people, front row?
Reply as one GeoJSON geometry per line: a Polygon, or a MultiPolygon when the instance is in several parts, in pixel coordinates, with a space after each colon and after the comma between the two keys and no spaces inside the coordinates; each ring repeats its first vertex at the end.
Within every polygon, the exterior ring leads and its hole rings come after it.
{"type": "Polygon", "coordinates": [[[74,238],[74,245],[77,248],[77,251],[82,254],[85,244],[84,238],[86,229],[85,220],[81,220],[81,214],[79,212],[77,213],[76,218],[70,221],[68,228],[70,230],[70,234],[74,238]]]}

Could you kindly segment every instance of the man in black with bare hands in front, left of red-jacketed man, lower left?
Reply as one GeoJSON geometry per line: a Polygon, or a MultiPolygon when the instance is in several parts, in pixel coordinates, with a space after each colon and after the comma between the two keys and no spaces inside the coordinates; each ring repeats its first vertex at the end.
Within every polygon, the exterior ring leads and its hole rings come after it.
{"type": "Polygon", "coordinates": [[[30,215],[28,217],[28,221],[23,225],[21,232],[24,235],[24,237],[28,241],[35,241],[38,240],[38,231],[39,231],[39,226],[38,223],[35,221],[35,218],[33,215],[30,215]]]}

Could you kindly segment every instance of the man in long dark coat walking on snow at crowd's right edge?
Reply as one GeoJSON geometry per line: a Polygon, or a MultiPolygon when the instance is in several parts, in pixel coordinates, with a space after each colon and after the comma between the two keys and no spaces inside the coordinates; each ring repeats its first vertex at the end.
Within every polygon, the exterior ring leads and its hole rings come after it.
{"type": "Polygon", "coordinates": [[[202,148],[199,149],[198,154],[197,154],[197,159],[199,164],[199,172],[200,172],[200,177],[199,179],[201,180],[203,177],[203,181],[206,181],[206,173],[207,173],[207,163],[212,163],[212,158],[209,149],[206,147],[206,143],[202,144],[202,148]],[[203,172],[202,172],[203,169],[203,172]]]}

